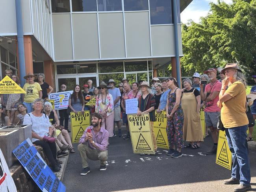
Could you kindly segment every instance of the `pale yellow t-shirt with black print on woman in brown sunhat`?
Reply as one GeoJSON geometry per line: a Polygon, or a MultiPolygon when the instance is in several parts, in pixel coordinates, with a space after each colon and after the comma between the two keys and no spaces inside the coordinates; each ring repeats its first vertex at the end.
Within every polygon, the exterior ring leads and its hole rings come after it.
{"type": "Polygon", "coordinates": [[[32,103],[35,99],[39,98],[39,91],[42,90],[39,83],[35,82],[33,84],[25,83],[23,86],[24,91],[24,102],[32,103]]]}

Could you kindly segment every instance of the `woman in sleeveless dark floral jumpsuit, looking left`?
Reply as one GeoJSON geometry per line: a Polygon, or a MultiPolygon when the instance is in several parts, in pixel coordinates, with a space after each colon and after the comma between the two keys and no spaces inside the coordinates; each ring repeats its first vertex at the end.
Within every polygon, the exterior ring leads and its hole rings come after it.
{"type": "Polygon", "coordinates": [[[167,137],[169,141],[170,150],[167,155],[171,155],[173,158],[182,157],[181,148],[184,145],[183,142],[183,121],[184,114],[180,103],[181,90],[178,88],[178,84],[175,78],[168,78],[167,85],[171,91],[168,93],[168,100],[166,104],[167,114],[167,137]],[[175,150],[174,137],[176,137],[177,150],[175,150]]]}

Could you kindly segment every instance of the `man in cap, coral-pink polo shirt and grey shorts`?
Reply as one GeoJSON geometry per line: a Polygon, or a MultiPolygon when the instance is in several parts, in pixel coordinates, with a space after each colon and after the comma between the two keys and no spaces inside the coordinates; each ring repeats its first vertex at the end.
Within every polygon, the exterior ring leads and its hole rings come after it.
{"type": "Polygon", "coordinates": [[[217,80],[217,71],[214,68],[210,68],[204,72],[207,74],[210,80],[203,89],[203,85],[200,83],[200,96],[201,100],[205,101],[204,117],[206,126],[211,130],[211,138],[213,140],[213,147],[207,154],[216,154],[218,144],[217,123],[221,114],[221,109],[217,106],[219,101],[219,92],[221,91],[221,82],[217,80]]]}

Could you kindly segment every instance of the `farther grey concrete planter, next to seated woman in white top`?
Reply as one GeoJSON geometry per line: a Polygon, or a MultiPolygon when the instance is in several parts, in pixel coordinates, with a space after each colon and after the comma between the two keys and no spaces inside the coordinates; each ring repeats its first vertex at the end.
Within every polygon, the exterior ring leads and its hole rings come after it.
{"type": "Polygon", "coordinates": [[[27,138],[32,140],[31,125],[19,125],[19,126],[5,126],[0,128],[0,130],[19,130],[19,144],[21,144],[27,138]]]}

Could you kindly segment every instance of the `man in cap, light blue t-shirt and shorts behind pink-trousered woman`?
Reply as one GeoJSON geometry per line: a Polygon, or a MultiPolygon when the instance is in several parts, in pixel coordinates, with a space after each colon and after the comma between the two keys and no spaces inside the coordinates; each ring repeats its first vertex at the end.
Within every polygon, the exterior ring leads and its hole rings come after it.
{"type": "MultiPolygon", "coordinates": [[[[117,123],[117,128],[118,128],[118,136],[122,137],[122,132],[121,132],[121,108],[120,108],[120,98],[121,98],[121,93],[118,88],[115,87],[115,81],[113,79],[109,79],[107,82],[108,86],[110,87],[108,92],[112,95],[113,97],[113,102],[114,102],[114,122],[117,123]]],[[[115,137],[115,123],[114,123],[114,136],[115,137]]]]}

